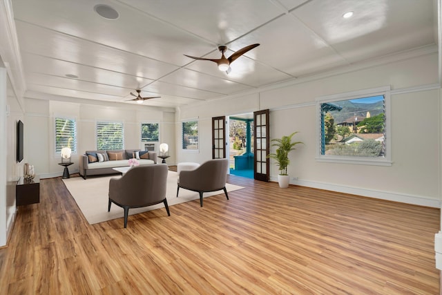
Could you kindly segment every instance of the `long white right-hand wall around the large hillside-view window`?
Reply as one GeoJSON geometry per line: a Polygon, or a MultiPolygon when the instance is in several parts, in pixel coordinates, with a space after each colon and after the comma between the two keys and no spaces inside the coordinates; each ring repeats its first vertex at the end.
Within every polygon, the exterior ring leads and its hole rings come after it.
{"type": "MultiPolygon", "coordinates": [[[[291,153],[291,183],[332,189],[362,196],[440,207],[440,97],[437,54],[392,61],[349,70],[321,79],[309,77],[279,88],[262,89],[244,97],[231,97],[182,107],[177,125],[199,117],[200,152],[177,153],[178,162],[204,162],[211,158],[211,117],[270,109],[270,137],[299,131],[305,144],[291,153]],[[349,91],[391,86],[392,166],[317,162],[316,98],[349,91]]],[[[181,144],[177,129],[177,146],[181,144]]],[[[271,160],[271,179],[278,169],[271,160]]]]}

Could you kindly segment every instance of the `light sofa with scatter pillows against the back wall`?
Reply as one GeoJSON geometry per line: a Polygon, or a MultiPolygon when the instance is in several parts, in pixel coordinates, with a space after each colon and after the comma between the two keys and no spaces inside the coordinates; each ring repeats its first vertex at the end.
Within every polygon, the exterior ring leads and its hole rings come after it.
{"type": "MultiPolygon", "coordinates": [[[[86,179],[86,177],[89,175],[104,175],[104,174],[119,173],[113,170],[113,168],[129,166],[128,159],[135,158],[135,152],[140,153],[144,151],[141,151],[140,149],[86,151],[84,155],[79,156],[79,174],[81,175],[82,178],[86,179]],[[93,159],[94,158],[93,155],[96,155],[97,153],[100,153],[102,155],[107,155],[108,158],[105,158],[102,162],[99,162],[98,159],[97,162],[91,162],[90,158],[93,159]],[[109,157],[109,155],[111,154],[121,155],[122,160],[111,160],[111,157],[109,157]],[[89,157],[89,155],[92,155],[92,157],[89,157]]],[[[140,163],[140,165],[157,164],[157,153],[155,152],[148,152],[147,158],[146,155],[142,157],[143,158],[137,160],[140,163]]]]}

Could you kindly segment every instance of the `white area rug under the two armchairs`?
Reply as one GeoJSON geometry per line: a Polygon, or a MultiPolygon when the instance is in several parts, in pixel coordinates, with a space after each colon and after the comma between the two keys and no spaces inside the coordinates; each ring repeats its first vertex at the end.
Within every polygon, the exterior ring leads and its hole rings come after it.
{"type": "MultiPolygon", "coordinates": [[[[90,225],[95,223],[113,220],[115,218],[122,218],[124,211],[116,204],[112,204],[111,211],[108,212],[108,190],[109,180],[111,178],[120,178],[119,175],[93,177],[84,180],[81,177],[64,179],[63,182],[68,188],[70,194],[73,196],[75,202],[83,213],[90,225]]],[[[174,171],[169,171],[167,178],[167,204],[169,207],[174,204],[182,202],[189,202],[191,200],[199,200],[200,195],[195,191],[188,191],[187,189],[180,189],[180,194],[177,196],[177,178],[178,174],[174,171]]],[[[234,184],[226,184],[227,191],[236,191],[244,189],[234,184]]],[[[224,191],[213,191],[211,193],[204,193],[203,197],[214,196],[222,193],[222,198],[225,198],[224,191]]],[[[195,206],[200,206],[200,202],[195,203],[195,206]]],[[[156,204],[149,207],[129,209],[129,215],[150,211],[153,209],[164,208],[164,204],[156,204]]],[[[166,214],[166,209],[164,209],[166,214]]]]}

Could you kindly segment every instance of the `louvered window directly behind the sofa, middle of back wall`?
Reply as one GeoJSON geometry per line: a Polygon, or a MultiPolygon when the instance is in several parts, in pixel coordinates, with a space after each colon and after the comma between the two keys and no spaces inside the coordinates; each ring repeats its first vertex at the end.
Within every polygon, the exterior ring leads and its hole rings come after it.
{"type": "Polygon", "coordinates": [[[122,122],[97,122],[97,150],[124,149],[122,122]]]}

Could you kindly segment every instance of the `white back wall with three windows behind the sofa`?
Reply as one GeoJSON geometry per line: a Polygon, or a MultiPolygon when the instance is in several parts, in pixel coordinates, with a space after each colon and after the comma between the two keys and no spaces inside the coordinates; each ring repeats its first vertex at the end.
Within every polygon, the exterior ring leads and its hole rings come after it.
{"type": "MultiPolygon", "coordinates": [[[[55,117],[69,117],[77,122],[77,154],[73,155],[74,164],[69,166],[70,173],[78,172],[78,157],[86,150],[97,149],[95,126],[97,121],[118,121],[124,124],[124,147],[144,149],[141,144],[141,122],[159,122],[160,140],[175,145],[175,124],[173,111],[148,108],[139,105],[113,104],[103,102],[61,102],[44,99],[25,99],[25,155],[27,161],[35,166],[36,173],[42,178],[59,176],[63,167],[61,158],[55,153],[55,117]]],[[[159,144],[158,144],[159,145],[159,144]]],[[[175,155],[171,151],[171,161],[175,155]]],[[[161,160],[161,159],[160,159],[161,160]]],[[[168,163],[172,163],[168,160],[168,163]]]]}

